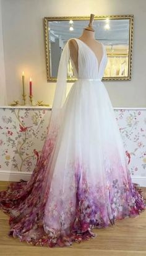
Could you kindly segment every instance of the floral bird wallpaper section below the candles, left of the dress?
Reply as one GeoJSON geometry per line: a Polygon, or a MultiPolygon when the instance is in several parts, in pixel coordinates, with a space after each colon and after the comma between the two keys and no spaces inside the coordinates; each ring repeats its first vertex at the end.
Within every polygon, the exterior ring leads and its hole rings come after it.
{"type": "Polygon", "coordinates": [[[1,169],[32,172],[46,138],[51,111],[14,108],[1,111],[1,169]]]}

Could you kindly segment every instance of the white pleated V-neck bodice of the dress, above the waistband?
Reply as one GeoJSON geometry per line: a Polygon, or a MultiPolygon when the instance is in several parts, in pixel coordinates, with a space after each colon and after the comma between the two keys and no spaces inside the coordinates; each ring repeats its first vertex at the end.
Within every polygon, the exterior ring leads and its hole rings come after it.
{"type": "MultiPolygon", "coordinates": [[[[100,78],[101,79],[105,72],[105,67],[106,67],[106,64],[108,61],[105,45],[101,43],[102,49],[103,49],[103,54],[102,54],[101,61],[99,64],[97,56],[95,55],[93,50],[87,44],[85,44],[85,42],[83,42],[82,40],[77,39],[77,38],[72,38],[72,39],[76,40],[78,47],[79,47],[78,48],[79,49],[79,52],[78,52],[78,69],[79,70],[78,70],[78,72],[75,69],[74,62],[71,59],[75,77],[77,77],[77,78],[93,78],[93,79],[100,78]]],[[[71,39],[69,39],[69,40],[71,40],[71,39]]]]}

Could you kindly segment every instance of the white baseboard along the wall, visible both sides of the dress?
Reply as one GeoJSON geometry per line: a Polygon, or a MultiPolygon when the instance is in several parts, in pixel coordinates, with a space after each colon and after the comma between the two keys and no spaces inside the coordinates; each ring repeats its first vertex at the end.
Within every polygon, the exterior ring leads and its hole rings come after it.
{"type": "MultiPolygon", "coordinates": [[[[0,171],[0,181],[20,181],[24,179],[28,181],[32,173],[17,172],[17,171],[0,171]]],[[[133,183],[138,183],[140,187],[146,187],[146,176],[131,176],[133,183]]]]}

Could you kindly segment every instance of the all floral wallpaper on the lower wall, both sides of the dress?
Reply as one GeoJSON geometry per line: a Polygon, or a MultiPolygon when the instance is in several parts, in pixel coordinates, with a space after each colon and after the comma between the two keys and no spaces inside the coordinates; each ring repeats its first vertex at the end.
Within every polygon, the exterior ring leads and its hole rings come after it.
{"type": "MultiPolygon", "coordinates": [[[[133,176],[146,176],[145,111],[114,110],[133,176]]],[[[1,170],[32,173],[46,138],[50,115],[50,109],[0,109],[0,173],[1,170]]]]}

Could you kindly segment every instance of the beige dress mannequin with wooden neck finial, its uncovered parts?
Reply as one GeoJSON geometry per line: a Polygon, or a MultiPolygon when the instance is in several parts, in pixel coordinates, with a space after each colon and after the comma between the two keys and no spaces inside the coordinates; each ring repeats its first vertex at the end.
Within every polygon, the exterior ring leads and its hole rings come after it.
{"type": "MultiPolygon", "coordinates": [[[[90,22],[88,24],[88,27],[84,28],[82,36],[80,36],[78,39],[82,40],[85,44],[88,45],[88,47],[90,47],[90,49],[93,50],[93,52],[97,56],[98,63],[100,64],[101,57],[103,55],[103,50],[101,43],[95,39],[95,30],[93,29],[94,16],[94,14],[90,14],[90,22]]],[[[74,62],[76,70],[78,71],[78,45],[74,39],[69,40],[69,49],[71,59],[74,62]]]]}

